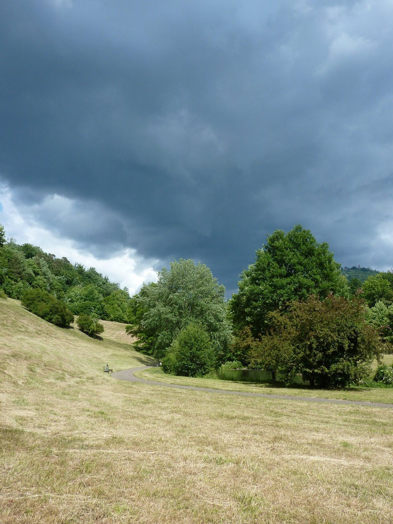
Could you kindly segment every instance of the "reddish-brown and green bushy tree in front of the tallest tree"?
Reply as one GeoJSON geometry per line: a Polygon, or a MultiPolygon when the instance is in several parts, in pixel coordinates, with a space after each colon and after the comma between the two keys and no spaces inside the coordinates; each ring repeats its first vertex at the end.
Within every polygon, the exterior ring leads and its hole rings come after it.
{"type": "Polygon", "coordinates": [[[366,306],[358,298],[310,296],[292,302],[285,313],[270,315],[271,328],[255,345],[251,363],[264,369],[301,374],[311,386],[344,387],[358,383],[379,358],[381,345],[366,323],[366,306]]]}

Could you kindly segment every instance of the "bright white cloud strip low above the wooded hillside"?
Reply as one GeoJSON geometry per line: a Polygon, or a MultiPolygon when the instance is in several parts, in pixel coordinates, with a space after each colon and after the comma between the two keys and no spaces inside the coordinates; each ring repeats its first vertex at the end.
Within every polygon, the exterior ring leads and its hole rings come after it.
{"type": "MultiPolygon", "coordinates": [[[[74,209],[71,200],[58,195],[48,196],[44,201],[46,210],[55,204],[63,218],[67,210],[74,209]]],[[[0,185],[0,223],[4,225],[7,237],[14,238],[17,244],[34,244],[57,257],[67,257],[72,264],[95,267],[112,282],[118,282],[122,288],[127,287],[130,294],[136,293],[144,282],[157,280],[157,273],[152,268],[157,261],[149,263],[138,257],[133,249],[123,249],[115,256],[96,257],[79,247],[72,238],[59,237],[56,231],[44,227],[36,216],[37,204],[25,204],[23,208],[18,208],[11,190],[6,185],[0,185]]]]}

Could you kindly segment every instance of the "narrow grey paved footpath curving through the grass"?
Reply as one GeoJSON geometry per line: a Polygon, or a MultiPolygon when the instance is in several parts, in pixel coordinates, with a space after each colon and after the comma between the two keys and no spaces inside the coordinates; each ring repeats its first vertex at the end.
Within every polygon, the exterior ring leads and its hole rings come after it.
{"type": "Polygon", "coordinates": [[[315,398],[315,397],[296,397],[293,395],[269,395],[268,393],[247,393],[245,391],[228,391],[224,389],[200,388],[197,386],[181,386],[180,384],[169,384],[166,382],[157,382],[156,380],[146,380],[145,378],[138,378],[134,376],[137,371],[149,369],[152,366],[140,366],[132,369],[124,369],[112,374],[113,378],[117,380],[127,380],[128,382],[141,382],[149,384],[150,386],[162,386],[176,389],[191,389],[193,391],[205,391],[208,393],[220,393],[223,395],[239,395],[241,397],[263,397],[263,398],[279,398],[281,400],[302,400],[303,402],[323,402],[326,404],[348,404],[353,406],[370,406],[372,408],[393,408],[393,404],[383,404],[382,402],[362,402],[361,400],[340,400],[331,398],[315,398]]]}

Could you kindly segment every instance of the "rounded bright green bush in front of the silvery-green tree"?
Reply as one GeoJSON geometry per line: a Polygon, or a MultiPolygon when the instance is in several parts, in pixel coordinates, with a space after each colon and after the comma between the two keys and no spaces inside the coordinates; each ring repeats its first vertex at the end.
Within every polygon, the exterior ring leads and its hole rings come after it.
{"type": "Polygon", "coordinates": [[[162,369],[174,375],[201,377],[209,373],[214,364],[209,334],[199,324],[191,323],[172,342],[162,360],[162,369]]]}

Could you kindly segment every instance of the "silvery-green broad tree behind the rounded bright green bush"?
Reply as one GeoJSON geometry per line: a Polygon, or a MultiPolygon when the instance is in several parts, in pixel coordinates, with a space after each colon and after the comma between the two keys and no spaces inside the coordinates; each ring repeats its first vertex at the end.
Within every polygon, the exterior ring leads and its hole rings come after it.
{"type": "Polygon", "coordinates": [[[190,323],[208,333],[218,358],[231,342],[225,288],[204,264],[173,261],[158,273],[158,281],[144,285],[133,298],[134,325],[127,329],[144,349],[162,359],[173,340],[190,323]]]}

